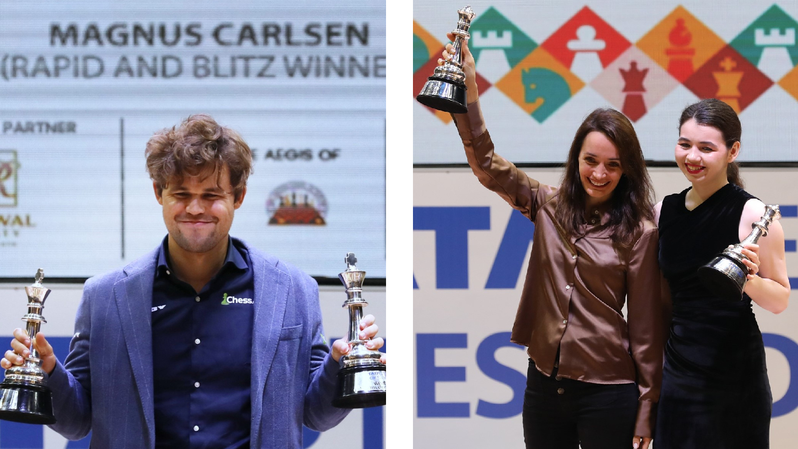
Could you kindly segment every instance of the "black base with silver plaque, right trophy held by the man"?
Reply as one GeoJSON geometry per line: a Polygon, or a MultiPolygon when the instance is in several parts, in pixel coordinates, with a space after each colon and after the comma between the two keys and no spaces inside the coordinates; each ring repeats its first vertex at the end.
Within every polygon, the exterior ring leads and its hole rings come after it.
{"type": "Polygon", "coordinates": [[[333,406],[366,408],[385,405],[385,365],[342,368],[333,406]]]}

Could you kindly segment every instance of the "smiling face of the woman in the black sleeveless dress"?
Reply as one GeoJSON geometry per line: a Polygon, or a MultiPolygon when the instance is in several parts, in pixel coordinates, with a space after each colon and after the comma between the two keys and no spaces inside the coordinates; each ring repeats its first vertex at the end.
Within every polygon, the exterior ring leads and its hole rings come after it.
{"type": "Polygon", "coordinates": [[[699,125],[693,118],[679,128],[676,163],[693,184],[725,184],[726,168],[739,153],[740,142],[727,148],[723,133],[717,128],[699,125]]]}

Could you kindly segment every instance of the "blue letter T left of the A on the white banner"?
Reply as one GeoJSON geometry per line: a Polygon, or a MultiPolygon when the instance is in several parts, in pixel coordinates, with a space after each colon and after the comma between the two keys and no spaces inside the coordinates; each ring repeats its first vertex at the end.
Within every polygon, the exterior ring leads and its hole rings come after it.
{"type": "Polygon", "coordinates": [[[436,288],[468,288],[468,231],[490,228],[489,207],[413,207],[413,230],[435,231],[436,288]]]}

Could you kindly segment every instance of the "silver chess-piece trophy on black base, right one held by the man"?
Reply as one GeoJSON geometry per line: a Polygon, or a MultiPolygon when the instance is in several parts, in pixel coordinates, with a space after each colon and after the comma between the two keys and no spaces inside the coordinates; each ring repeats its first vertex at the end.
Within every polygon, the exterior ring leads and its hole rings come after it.
{"type": "Polygon", "coordinates": [[[338,390],[333,405],[341,408],[364,408],[385,405],[385,364],[380,362],[380,352],[365,347],[360,340],[360,320],[363,307],[369,303],[361,297],[365,272],[358,270],[358,259],[354,253],[346,254],[346,271],[338,279],[346,287],[346,302],[349,308],[350,325],[347,340],[352,346],[349,353],[341,356],[341,371],[338,372],[338,390]]]}

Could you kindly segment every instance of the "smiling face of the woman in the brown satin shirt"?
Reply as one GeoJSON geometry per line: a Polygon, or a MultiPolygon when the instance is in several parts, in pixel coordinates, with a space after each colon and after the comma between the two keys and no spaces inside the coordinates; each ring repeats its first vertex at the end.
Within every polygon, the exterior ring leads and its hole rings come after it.
{"type": "Polygon", "coordinates": [[[588,133],[579,151],[579,180],[587,193],[587,205],[598,205],[612,196],[623,169],[618,148],[603,133],[588,133]]]}

